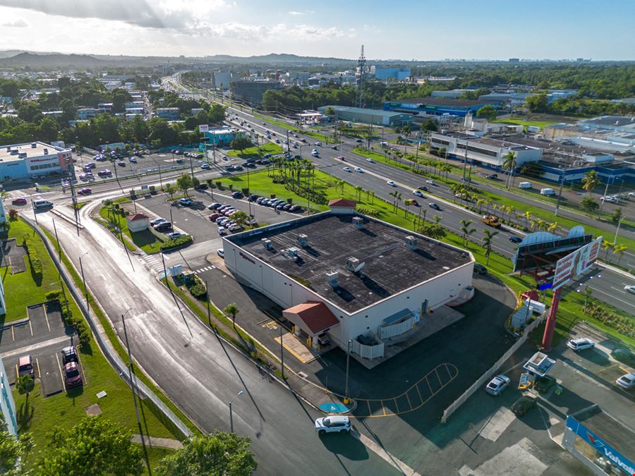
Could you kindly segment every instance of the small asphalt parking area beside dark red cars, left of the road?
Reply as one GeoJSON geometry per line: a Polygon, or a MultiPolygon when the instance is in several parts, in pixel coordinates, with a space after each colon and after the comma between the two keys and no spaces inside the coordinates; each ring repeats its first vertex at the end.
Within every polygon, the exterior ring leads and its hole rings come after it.
{"type": "Polygon", "coordinates": [[[73,344],[73,329],[64,325],[57,301],[29,306],[27,319],[0,330],[0,355],[8,381],[15,384],[18,359],[30,355],[43,395],[65,391],[61,350],[73,344]]]}

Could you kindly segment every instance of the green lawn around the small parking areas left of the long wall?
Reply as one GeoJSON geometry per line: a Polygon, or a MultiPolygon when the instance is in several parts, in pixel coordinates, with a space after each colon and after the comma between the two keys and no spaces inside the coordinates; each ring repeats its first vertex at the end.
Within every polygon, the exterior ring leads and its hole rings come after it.
{"type": "MultiPolygon", "coordinates": [[[[45,294],[47,292],[61,289],[54,264],[39,236],[23,221],[11,222],[9,236],[12,233],[20,233],[20,236],[28,233],[32,236],[32,243],[38,251],[40,260],[42,260],[43,279],[40,284],[32,279],[23,281],[6,280],[4,287],[6,296],[8,298],[11,297],[11,300],[7,300],[10,310],[11,307],[18,305],[18,299],[21,301],[19,305],[22,307],[37,304],[46,300],[45,294]],[[19,296],[18,299],[16,299],[17,296],[19,296]]],[[[28,271],[22,274],[30,277],[28,271]]],[[[66,290],[66,295],[71,298],[71,293],[68,290],[66,290]]],[[[80,315],[80,310],[72,298],[69,301],[69,305],[73,315],[80,315]]],[[[37,453],[46,446],[45,436],[52,427],[71,427],[75,425],[85,415],[85,408],[94,403],[99,405],[102,413],[109,420],[118,422],[132,432],[138,432],[132,393],[117,372],[109,365],[92,337],[90,347],[80,350],[80,360],[86,379],[86,384],[82,389],[75,389],[68,393],[59,393],[44,398],[40,382],[38,381],[29,395],[27,406],[26,396],[20,395],[13,388],[18,427],[20,431],[31,432],[36,444],[31,456],[25,462],[27,469],[35,462],[37,453]],[[96,393],[99,391],[106,391],[107,396],[97,398],[96,393]]],[[[154,437],[175,437],[147,405],[141,405],[140,409],[145,432],[154,437]]]]}

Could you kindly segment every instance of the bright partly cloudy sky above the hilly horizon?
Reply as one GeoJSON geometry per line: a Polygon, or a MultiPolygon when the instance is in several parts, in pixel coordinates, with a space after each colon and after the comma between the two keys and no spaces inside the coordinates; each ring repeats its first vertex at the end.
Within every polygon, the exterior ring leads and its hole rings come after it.
{"type": "Polygon", "coordinates": [[[0,0],[0,49],[634,60],[634,0],[0,0]]]}

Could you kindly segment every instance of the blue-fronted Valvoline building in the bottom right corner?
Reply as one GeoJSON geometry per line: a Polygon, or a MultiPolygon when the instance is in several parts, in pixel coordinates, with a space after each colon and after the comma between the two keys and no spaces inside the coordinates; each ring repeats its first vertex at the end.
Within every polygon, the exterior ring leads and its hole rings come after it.
{"type": "Polygon", "coordinates": [[[598,476],[635,475],[635,431],[592,405],[567,417],[562,446],[598,476]]]}

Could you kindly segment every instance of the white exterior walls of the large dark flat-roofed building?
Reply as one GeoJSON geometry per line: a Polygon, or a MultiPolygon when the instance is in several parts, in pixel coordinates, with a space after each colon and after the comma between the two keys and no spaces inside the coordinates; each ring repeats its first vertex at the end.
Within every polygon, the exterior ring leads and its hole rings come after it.
{"type": "MultiPolygon", "coordinates": [[[[469,262],[458,269],[452,269],[446,274],[435,276],[430,281],[418,284],[409,290],[349,315],[301,283],[260,261],[249,252],[238,248],[231,241],[223,240],[223,250],[226,267],[232,274],[243,279],[250,287],[260,291],[282,307],[293,307],[308,300],[325,303],[339,319],[339,326],[331,329],[329,334],[340,346],[345,346],[349,338],[356,338],[360,334],[376,334],[377,327],[383,319],[395,312],[403,309],[409,309],[413,312],[420,311],[421,305],[426,299],[428,300],[428,308],[434,310],[456,298],[463,288],[471,286],[474,266],[473,262],[469,262]]],[[[434,314],[431,319],[433,318],[434,314]]]]}

